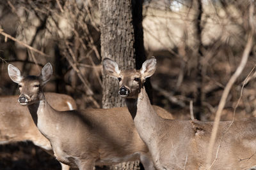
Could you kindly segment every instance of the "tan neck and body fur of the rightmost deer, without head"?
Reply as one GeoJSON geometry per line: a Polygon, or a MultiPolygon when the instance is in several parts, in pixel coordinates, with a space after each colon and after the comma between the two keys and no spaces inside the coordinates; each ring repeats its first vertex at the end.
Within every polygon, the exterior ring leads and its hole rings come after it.
{"type": "MultiPolygon", "coordinates": [[[[205,169],[212,122],[161,118],[152,109],[144,89],[138,95],[137,107],[134,124],[152,153],[157,169],[205,169]]],[[[248,169],[255,166],[256,132],[253,130],[256,129],[256,118],[236,120],[227,131],[230,124],[230,121],[220,123],[212,162],[219,144],[220,150],[212,169],[248,169]]]]}

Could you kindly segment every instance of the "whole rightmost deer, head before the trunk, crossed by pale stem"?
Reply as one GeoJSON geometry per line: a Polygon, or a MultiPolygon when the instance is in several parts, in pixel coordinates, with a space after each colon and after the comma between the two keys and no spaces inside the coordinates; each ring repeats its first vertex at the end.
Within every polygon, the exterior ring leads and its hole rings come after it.
{"type": "MultiPolygon", "coordinates": [[[[120,70],[108,58],[104,73],[119,80],[118,94],[134,120],[141,139],[148,146],[157,169],[206,169],[205,157],[211,137],[212,122],[170,120],[159,117],[143,83],[156,70],[156,58],[143,62],[140,70],[120,70]]],[[[220,122],[212,169],[248,169],[256,165],[256,118],[220,122]]]]}

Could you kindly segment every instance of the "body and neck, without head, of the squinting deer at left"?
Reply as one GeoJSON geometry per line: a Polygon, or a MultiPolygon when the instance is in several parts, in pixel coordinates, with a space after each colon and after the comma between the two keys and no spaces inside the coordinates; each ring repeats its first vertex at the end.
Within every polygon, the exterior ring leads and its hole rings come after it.
{"type": "MultiPolygon", "coordinates": [[[[127,108],[56,111],[44,99],[28,108],[32,117],[37,117],[39,131],[51,142],[54,155],[64,164],[81,167],[79,161],[86,161],[86,169],[90,169],[150,159],[127,108]]],[[[153,168],[152,163],[150,166],[153,168]]]]}

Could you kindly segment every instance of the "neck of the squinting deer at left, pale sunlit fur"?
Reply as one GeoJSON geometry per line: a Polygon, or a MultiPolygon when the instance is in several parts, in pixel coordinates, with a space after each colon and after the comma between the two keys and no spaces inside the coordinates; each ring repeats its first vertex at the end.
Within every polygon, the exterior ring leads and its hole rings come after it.
{"type": "Polygon", "coordinates": [[[40,100],[28,105],[28,110],[38,130],[49,139],[56,129],[56,118],[58,114],[45,100],[44,94],[40,94],[40,100]]]}

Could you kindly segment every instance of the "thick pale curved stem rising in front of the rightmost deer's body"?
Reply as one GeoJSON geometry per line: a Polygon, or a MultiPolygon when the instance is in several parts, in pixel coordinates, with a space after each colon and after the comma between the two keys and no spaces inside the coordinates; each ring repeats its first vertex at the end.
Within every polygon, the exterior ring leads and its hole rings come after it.
{"type": "MultiPolygon", "coordinates": [[[[253,5],[250,6],[250,17],[252,18],[253,15],[253,5]]],[[[212,150],[213,150],[213,146],[215,143],[215,139],[216,139],[216,135],[217,135],[217,131],[218,131],[218,125],[220,124],[220,116],[221,116],[221,112],[225,106],[226,103],[226,99],[228,97],[228,94],[230,92],[230,89],[232,87],[232,85],[234,84],[234,82],[236,81],[237,77],[241,74],[241,72],[244,69],[244,66],[248,60],[250,51],[252,49],[252,44],[253,44],[253,32],[254,29],[253,27],[251,28],[249,34],[248,34],[248,40],[246,43],[246,46],[244,48],[244,52],[243,52],[243,56],[241,59],[241,62],[239,64],[239,66],[236,69],[236,72],[231,76],[230,80],[228,81],[223,94],[221,96],[221,100],[220,103],[218,105],[218,110],[216,111],[216,116],[214,119],[214,125],[212,128],[212,133],[211,133],[211,138],[210,138],[210,142],[209,142],[209,147],[207,150],[207,155],[206,155],[206,169],[211,169],[211,157],[212,157],[212,150]]]]}

